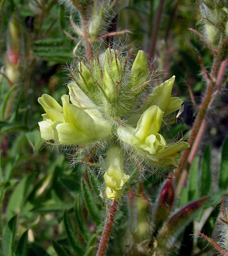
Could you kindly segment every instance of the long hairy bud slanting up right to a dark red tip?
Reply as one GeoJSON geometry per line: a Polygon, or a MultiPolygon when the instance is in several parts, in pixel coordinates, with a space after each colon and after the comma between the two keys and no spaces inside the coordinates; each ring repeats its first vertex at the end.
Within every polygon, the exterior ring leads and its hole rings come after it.
{"type": "Polygon", "coordinates": [[[168,251],[174,246],[180,233],[193,220],[197,211],[208,199],[209,197],[204,197],[190,203],[169,218],[156,238],[158,242],[158,252],[168,251]]]}

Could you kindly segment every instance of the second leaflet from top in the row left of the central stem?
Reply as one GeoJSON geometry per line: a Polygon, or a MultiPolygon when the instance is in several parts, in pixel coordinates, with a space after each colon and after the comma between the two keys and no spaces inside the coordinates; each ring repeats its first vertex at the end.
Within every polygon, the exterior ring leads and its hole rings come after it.
{"type": "Polygon", "coordinates": [[[88,241],[89,237],[90,237],[90,234],[89,234],[89,230],[87,228],[87,225],[84,221],[84,218],[82,216],[82,210],[81,210],[79,195],[77,195],[76,198],[75,198],[74,210],[75,210],[75,216],[76,216],[76,221],[78,223],[79,230],[80,230],[83,238],[85,239],[85,241],[88,241]]]}

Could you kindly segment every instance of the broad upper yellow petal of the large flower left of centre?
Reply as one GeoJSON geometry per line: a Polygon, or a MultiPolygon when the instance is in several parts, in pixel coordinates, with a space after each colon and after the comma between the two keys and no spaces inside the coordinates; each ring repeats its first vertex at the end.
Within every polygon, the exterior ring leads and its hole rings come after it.
{"type": "Polygon", "coordinates": [[[69,96],[62,96],[64,119],[83,133],[94,134],[95,122],[93,118],[76,105],[69,103],[69,96]]]}

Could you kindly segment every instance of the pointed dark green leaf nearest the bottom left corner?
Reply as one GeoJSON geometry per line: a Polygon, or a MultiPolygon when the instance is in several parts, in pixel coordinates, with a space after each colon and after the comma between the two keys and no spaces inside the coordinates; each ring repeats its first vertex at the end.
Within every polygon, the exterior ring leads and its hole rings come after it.
{"type": "Polygon", "coordinates": [[[6,256],[13,254],[13,240],[16,229],[17,215],[13,216],[7,223],[5,232],[3,235],[2,245],[6,256]]]}

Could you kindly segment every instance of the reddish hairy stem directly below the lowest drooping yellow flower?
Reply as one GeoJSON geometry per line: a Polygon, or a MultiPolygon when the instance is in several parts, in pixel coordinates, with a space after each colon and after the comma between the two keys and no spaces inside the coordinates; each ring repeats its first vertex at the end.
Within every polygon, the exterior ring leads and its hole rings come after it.
{"type": "Polygon", "coordinates": [[[106,223],[104,226],[104,230],[103,230],[100,245],[98,248],[97,256],[103,256],[107,249],[109,237],[111,234],[111,230],[112,230],[112,226],[113,226],[113,222],[114,222],[114,218],[115,218],[115,214],[116,214],[117,204],[118,204],[118,201],[113,200],[111,203],[111,206],[109,208],[109,213],[108,213],[108,217],[106,219],[106,223]]]}

